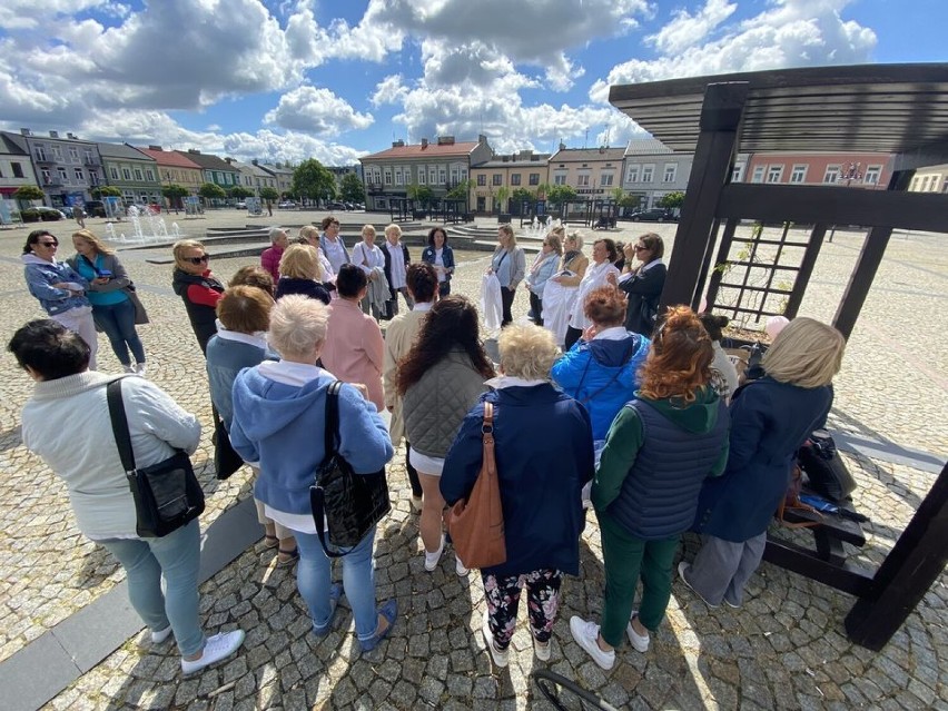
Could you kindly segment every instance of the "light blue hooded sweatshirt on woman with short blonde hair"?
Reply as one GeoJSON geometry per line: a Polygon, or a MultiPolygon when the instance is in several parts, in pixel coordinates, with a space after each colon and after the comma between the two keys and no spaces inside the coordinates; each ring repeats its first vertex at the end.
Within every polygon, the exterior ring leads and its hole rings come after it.
{"type": "MultiPolygon", "coordinates": [[[[241,371],[234,382],[230,443],[245,462],[260,463],[254,497],[268,507],[312,513],[309,486],[326,457],[326,391],[335,379],[280,361],[241,371]]],[[[339,391],[338,452],[356,474],[378,472],[394,454],[375,405],[350,385],[339,391]]]]}

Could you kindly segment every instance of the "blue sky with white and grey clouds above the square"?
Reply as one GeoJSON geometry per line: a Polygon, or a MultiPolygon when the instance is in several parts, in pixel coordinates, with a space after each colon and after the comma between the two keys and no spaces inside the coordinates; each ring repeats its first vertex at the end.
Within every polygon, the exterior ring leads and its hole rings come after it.
{"type": "Polygon", "coordinates": [[[945,0],[0,0],[0,127],[352,165],[644,137],[609,87],[947,61],[945,0]]]}

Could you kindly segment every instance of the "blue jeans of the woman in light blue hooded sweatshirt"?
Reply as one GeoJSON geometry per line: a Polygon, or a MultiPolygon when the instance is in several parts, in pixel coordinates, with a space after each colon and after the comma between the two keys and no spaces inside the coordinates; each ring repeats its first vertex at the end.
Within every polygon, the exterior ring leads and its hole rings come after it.
{"type": "MultiPolygon", "coordinates": [[[[296,564],[296,586],[299,595],[309,608],[309,616],[316,625],[329,622],[333,608],[329,604],[329,589],[333,583],[333,562],[323,551],[319,536],[315,533],[296,534],[299,547],[299,562],[296,564]]],[[[372,639],[378,629],[378,613],[375,610],[375,569],[372,561],[375,544],[375,527],[359,541],[352,553],[343,556],[343,590],[353,609],[356,634],[359,641],[372,639]]]]}

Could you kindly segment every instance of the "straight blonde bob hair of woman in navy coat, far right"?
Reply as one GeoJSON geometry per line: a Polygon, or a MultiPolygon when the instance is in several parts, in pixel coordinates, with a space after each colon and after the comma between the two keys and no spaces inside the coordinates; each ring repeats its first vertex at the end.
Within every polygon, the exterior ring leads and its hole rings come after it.
{"type": "Polygon", "coordinates": [[[839,373],[845,350],[846,338],[836,328],[800,316],[773,339],[761,365],[774,381],[821,387],[839,373]]]}

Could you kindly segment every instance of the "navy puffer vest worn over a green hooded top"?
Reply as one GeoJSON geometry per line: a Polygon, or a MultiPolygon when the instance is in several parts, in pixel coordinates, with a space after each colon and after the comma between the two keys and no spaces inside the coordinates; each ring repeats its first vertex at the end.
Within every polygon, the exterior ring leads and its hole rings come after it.
{"type": "Polygon", "coordinates": [[[631,535],[670,539],[694,521],[701,484],[721,456],[728,436],[728,408],[718,401],[718,422],[707,433],[683,429],[640,399],[634,407],[644,436],[635,463],[608,513],[631,535]]]}

